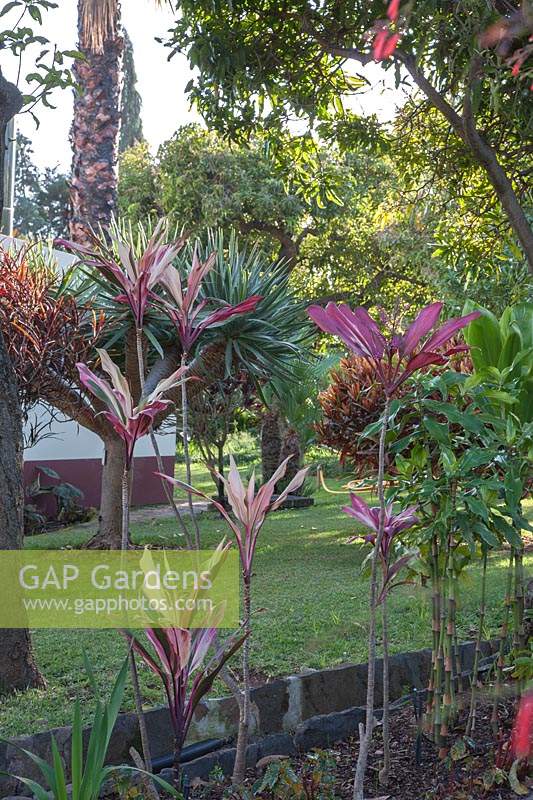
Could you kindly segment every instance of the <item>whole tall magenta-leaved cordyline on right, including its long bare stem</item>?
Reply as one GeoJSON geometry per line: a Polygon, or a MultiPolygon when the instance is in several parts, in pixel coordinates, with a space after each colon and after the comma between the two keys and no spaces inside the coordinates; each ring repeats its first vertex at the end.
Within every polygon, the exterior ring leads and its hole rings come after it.
{"type": "MultiPolygon", "coordinates": [[[[392,398],[400,386],[418,370],[431,365],[443,365],[458,352],[454,345],[443,351],[452,337],[479,316],[479,312],[451,319],[435,329],[443,308],[442,303],[432,303],[418,314],[403,334],[393,332],[385,337],[378,324],[365,308],[352,310],[347,304],[328,303],[325,308],[310,306],[311,319],[326,333],[337,336],[355,354],[364,358],[375,374],[376,382],[383,386],[385,403],[382,416],[378,451],[377,489],[379,496],[379,524],[371,560],[370,620],[368,636],[368,679],[366,724],[361,736],[354,780],[354,800],[363,800],[363,786],[368,752],[374,729],[374,689],[376,674],[376,617],[377,617],[377,567],[381,542],[385,530],[385,437],[392,398]],[[432,332],[433,331],[433,332],[432,332]]],[[[384,776],[386,778],[386,776],[384,776]]]]}

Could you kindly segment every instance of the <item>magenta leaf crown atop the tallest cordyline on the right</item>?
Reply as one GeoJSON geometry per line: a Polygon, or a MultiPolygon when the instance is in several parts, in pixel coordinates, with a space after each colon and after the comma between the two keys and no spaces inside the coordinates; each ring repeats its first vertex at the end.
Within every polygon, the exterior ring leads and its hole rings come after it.
{"type": "MultiPolygon", "coordinates": [[[[479,317],[473,311],[464,317],[450,319],[426,339],[434,329],[442,311],[442,303],[424,308],[403,335],[385,339],[366,309],[352,309],[345,303],[328,303],[325,308],[310,306],[309,316],[326,333],[337,336],[357,356],[372,367],[376,380],[391,397],[414,372],[431,365],[443,365],[458,352],[457,347],[444,347],[457,331],[479,317]],[[425,339],[425,341],[424,341],[425,339]]],[[[460,348],[462,349],[462,348],[460,348]]]]}

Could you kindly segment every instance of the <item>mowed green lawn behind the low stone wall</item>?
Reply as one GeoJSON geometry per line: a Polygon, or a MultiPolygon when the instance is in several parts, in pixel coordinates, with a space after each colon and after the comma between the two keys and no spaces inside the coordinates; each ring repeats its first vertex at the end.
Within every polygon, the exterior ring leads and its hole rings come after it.
{"type": "MultiPolygon", "coordinates": [[[[211,491],[209,478],[195,468],[195,483],[211,491]]],[[[342,481],[329,481],[340,489],[342,481]]],[[[365,547],[346,545],[357,528],[342,513],[342,495],[320,490],[315,506],[272,514],[261,533],[256,553],[252,666],[268,678],[320,669],[345,661],[366,659],[368,631],[368,580],[360,575],[365,547]]],[[[533,510],[530,504],[529,511],[533,510]]],[[[200,519],[202,544],[214,547],[226,534],[213,512],[200,519]]],[[[136,543],[176,543],[172,520],[134,524],[136,543]]],[[[86,529],[69,529],[34,537],[28,548],[79,546],[90,536],[86,529]]],[[[487,637],[496,633],[502,614],[507,555],[491,558],[487,597],[487,637]]],[[[526,558],[531,568],[533,558],[526,558]]],[[[477,621],[480,564],[466,571],[461,585],[459,633],[471,638],[477,621]]],[[[392,652],[414,650],[430,643],[429,592],[401,587],[390,598],[392,652]]],[[[125,656],[125,646],[114,631],[35,631],[36,658],[48,687],[0,700],[0,736],[15,736],[69,724],[73,701],[80,697],[87,722],[93,709],[92,692],[83,668],[85,650],[95,667],[102,691],[107,692],[125,656]]],[[[163,702],[155,676],[140,666],[146,706],[163,702]]],[[[128,691],[124,709],[133,709],[128,691]]]]}

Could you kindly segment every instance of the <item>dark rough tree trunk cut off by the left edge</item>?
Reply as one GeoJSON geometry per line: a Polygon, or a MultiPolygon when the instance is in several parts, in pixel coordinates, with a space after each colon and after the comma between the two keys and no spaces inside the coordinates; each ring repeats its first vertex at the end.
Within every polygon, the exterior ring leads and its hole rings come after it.
{"type": "MultiPolygon", "coordinates": [[[[15,376],[0,333],[0,550],[20,550],[24,538],[22,414],[15,376]]],[[[0,693],[44,687],[27,630],[1,631],[0,693]]]]}

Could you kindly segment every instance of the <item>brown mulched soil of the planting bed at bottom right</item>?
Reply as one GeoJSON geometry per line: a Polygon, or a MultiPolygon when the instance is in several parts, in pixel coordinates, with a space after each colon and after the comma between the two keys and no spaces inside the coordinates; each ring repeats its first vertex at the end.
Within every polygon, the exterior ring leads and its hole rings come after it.
{"type": "MultiPolygon", "coordinates": [[[[502,741],[509,741],[515,703],[507,701],[501,710],[502,741]]],[[[381,727],[374,733],[374,742],[368,763],[368,780],[365,797],[375,800],[516,800],[504,773],[500,773],[501,785],[490,786],[491,769],[495,766],[498,754],[490,727],[491,705],[478,709],[476,727],[469,744],[462,750],[465,739],[465,717],[462,714],[453,731],[452,741],[459,744],[453,750],[453,758],[441,760],[434,745],[419,733],[414,709],[404,707],[391,717],[391,777],[387,789],[379,786],[378,772],[383,757],[381,727]],[[487,785],[489,784],[489,785],[487,785]]],[[[303,796],[302,800],[352,800],[353,774],[357,758],[356,739],[341,742],[327,752],[334,762],[335,784],[333,795],[320,793],[303,796]]],[[[500,757],[502,755],[500,753],[500,757]]],[[[292,767],[302,774],[308,764],[307,756],[292,759],[292,767]]],[[[509,766],[505,770],[508,772],[509,766]]],[[[528,785],[523,773],[520,778],[528,785]]],[[[247,787],[251,789],[260,774],[252,770],[248,774],[247,787]]],[[[529,779],[529,788],[533,780],[529,779]]],[[[191,800],[241,800],[242,795],[234,794],[227,784],[215,783],[193,788],[191,800]]],[[[261,800],[277,800],[285,795],[280,793],[262,794],[261,800]]],[[[293,800],[295,795],[287,795],[293,800]]]]}

